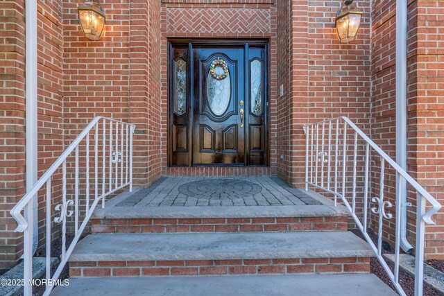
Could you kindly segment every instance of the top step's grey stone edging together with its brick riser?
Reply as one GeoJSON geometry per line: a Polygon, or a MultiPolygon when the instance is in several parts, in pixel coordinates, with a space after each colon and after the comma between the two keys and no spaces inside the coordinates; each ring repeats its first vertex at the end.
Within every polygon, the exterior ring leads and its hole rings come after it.
{"type": "Polygon", "coordinates": [[[96,209],[92,216],[92,232],[345,231],[350,216],[345,207],[334,207],[331,200],[313,191],[304,194],[318,204],[264,207],[126,206],[126,200],[134,197],[131,194],[122,193],[109,200],[105,209],[96,209]]]}

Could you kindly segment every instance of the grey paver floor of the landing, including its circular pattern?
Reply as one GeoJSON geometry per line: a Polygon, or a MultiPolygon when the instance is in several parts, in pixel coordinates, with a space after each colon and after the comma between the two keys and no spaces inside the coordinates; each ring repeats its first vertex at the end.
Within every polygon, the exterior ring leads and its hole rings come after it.
{"type": "Polygon", "coordinates": [[[117,207],[220,207],[321,204],[278,177],[162,177],[117,207]]]}

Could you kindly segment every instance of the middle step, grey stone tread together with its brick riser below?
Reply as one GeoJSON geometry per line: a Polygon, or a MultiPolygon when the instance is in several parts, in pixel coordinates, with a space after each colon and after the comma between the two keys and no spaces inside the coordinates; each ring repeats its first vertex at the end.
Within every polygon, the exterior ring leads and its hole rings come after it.
{"type": "Polygon", "coordinates": [[[369,272],[372,250],[351,232],[91,234],[71,277],[369,272]]]}

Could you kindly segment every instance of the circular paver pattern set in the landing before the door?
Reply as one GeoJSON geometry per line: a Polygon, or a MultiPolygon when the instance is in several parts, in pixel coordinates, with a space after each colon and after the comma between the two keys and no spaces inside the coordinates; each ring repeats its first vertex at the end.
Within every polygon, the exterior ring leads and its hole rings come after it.
{"type": "Polygon", "coordinates": [[[178,191],[194,198],[228,198],[233,200],[260,193],[262,187],[245,180],[215,179],[185,183],[179,186],[178,191]]]}

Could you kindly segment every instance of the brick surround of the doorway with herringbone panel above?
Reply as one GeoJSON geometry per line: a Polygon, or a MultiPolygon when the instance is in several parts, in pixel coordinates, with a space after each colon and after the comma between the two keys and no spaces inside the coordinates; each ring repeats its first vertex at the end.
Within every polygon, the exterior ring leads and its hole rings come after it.
{"type": "MultiPolygon", "coordinates": [[[[270,166],[271,174],[275,174],[277,162],[277,142],[275,134],[278,114],[277,98],[277,5],[276,0],[217,0],[209,3],[205,0],[162,0],[161,3],[161,157],[162,174],[174,175],[176,172],[167,168],[167,126],[168,126],[168,96],[167,96],[167,42],[171,38],[223,38],[234,40],[236,38],[264,38],[270,44],[270,166]]],[[[221,175],[231,175],[230,171],[221,170],[221,175]]],[[[207,175],[209,172],[203,168],[187,168],[180,170],[183,175],[207,175]]],[[[219,170],[214,172],[219,174],[219,170]]],[[[213,173],[213,175],[214,175],[213,173]]],[[[244,175],[268,174],[268,170],[241,170],[244,175]]]]}

